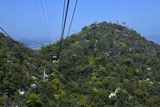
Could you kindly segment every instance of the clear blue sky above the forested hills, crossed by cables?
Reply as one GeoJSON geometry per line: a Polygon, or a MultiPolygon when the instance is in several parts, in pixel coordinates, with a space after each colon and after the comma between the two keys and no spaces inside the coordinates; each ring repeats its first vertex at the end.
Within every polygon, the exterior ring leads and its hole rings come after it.
{"type": "MultiPolygon", "coordinates": [[[[75,0],[70,2],[66,32],[75,0]]],[[[60,39],[63,0],[0,0],[0,5],[0,26],[13,39],[42,44],[60,39]]],[[[79,0],[71,34],[94,22],[125,22],[160,43],[159,5],[160,0],[79,0]]]]}

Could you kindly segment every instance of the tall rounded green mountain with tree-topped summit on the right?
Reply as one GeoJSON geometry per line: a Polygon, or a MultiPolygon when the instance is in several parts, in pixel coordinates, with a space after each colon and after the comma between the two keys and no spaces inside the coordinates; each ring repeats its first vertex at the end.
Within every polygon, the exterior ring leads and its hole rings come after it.
{"type": "MultiPolygon", "coordinates": [[[[58,48],[59,42],[40,53],[49,59],[58,48]]],[[[103,22],[66,38],[56,69],[66,79],[71,105],[160,104],[160,46],[127,27],[103,22]]]]}

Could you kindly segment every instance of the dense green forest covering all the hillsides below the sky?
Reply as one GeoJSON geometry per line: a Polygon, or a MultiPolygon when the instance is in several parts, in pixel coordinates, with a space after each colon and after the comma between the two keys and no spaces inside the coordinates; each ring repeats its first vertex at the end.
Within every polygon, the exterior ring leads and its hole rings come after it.
{"type": "Polygon", "coordinates": [[[158,107],[160,46],[136,31],[94,23],[33,51],[0,33],[2,107],[158,107]],[[44,81],[44,71],[48,80],[44,81]]]}

